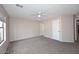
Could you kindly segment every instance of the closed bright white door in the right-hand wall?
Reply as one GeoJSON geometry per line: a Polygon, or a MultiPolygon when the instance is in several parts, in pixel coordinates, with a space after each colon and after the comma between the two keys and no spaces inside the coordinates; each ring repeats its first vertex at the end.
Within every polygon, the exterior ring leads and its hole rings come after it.
{"type": "Polygon", "coordinates": [[[52,38],[59,40],[59,19],[52,21],[52,38]]]}

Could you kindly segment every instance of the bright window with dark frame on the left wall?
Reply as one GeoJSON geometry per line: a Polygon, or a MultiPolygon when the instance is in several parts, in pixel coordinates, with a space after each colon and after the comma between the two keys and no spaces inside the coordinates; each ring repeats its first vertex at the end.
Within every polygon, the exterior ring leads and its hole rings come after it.
{"type": "Polygon", "coordinates": [[[6,40],[6,23],[0,20],[0,44],[6,40]]]}

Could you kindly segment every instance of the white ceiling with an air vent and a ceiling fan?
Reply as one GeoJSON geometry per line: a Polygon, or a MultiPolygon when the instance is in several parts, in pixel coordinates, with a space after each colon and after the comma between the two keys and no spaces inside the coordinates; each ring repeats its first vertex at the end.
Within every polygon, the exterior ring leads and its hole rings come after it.
{"type": "Polygon", "coordinates": [[[61,15],[73,15],[79,13],[78,4],[22,4],[23,8],[17,7],[16,4],[4,4],[3,7],[7,11],[9,17],[12,18],[30,18],[38,19],[34,16],[38,12],[44,12],[45,16],[41,19],[48,17],[55,17],[61,15]]]}

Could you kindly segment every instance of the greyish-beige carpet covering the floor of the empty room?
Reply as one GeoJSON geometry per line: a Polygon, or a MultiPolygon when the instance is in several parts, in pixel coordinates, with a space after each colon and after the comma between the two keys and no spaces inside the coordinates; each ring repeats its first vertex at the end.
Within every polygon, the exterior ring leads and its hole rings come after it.
{"type": "Polygon", "coordinates": [[[43,36],[11,42],[8,54],[78,54],[78,43],[61,43],[43,36]]]}

